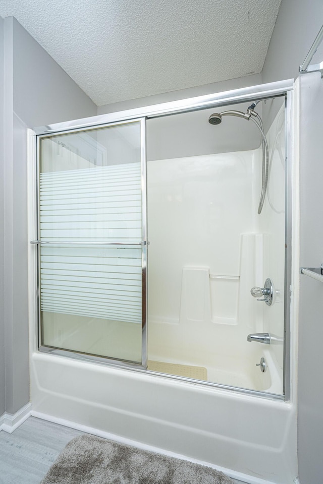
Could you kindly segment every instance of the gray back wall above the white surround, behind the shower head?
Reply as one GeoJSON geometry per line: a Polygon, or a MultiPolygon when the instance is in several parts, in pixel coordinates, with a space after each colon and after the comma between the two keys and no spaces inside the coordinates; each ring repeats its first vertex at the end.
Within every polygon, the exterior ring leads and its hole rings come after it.
{"type": "MultiPolygon", "coordinates": [[[[238,89],[250,85],[261,84],[260,74],[231,79],[198,86],[181,91],[167,92],[131,101],[107,104],[98,108],[98,113],[122,111],[136,107],[149,106],[161,102],[176,101],[189,97],[202,96],[231,89],[238,89]]],[[[226,106],[225,109],[246,110],[250,103],[226,106]]],[[[261,105],[258,111],[261,114],[261,105]]],[[[218,110],[218,108],[216,109],[218,110]]],[[[257,128],[250,123],[243,123],[241,119],[228,117],[225,123],[211,126],[209,115],[214,109],[194,111],[173,116],[166,116],[147,121],[147,158],[148,160],[163,160],[182,158],[186,156],[206,155],[209,153],[224,153],[228,151],[243,151],[258,148],[260,136],[257,128]],[[231,126],[230,131],[228,126],[231,126]],[[237,133],[232,138],[230,133],[237,133]],[[167,140],[167,143],[165,142],[167,140]]]]}

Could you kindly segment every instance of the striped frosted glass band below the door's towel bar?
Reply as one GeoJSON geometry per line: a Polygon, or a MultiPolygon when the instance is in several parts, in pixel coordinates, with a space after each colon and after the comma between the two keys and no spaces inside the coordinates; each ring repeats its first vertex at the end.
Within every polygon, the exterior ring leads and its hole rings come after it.
{"type": "Polygon", "coordinates": [[[141,249],[41,247],[42,311],[141,323],[141,249]]]}

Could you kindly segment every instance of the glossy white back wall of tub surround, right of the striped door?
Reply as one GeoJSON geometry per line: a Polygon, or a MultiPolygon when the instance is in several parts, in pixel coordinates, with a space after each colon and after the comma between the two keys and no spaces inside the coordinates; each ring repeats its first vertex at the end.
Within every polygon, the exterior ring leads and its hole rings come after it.
{"type": "Polygon", "coordinates": [[[255,271],[263,278],[259,161],[245,151],[148,162],[148,360],[206,367],[209,381],[262,390],[260,352],[247,342],[255,271]]]}

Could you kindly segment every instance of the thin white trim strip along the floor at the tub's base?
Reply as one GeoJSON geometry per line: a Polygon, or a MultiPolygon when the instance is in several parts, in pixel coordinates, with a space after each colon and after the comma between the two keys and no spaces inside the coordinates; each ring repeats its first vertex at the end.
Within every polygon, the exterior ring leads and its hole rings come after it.
{"type": "MultiPolygon", "coordinates": [[[[200,461],[200,460],[192,459],[192,458],[187,457],[185,455],[176,454],[174,452],[170,452],[170,451],[167,451],[165,449],[159,449],[159,448],[153,447],[151,445],[143,444],[142,442],[137,442],[137,441],[134,441],[134,440],[131,440],[131,439],[127,439],[125,437],[120,437],[120,436],[115,435],[115,434],[110,434],[109,432],[104,432],[104,431],[101,431],[99,429],[93,429],[91,427],[87,427],[85,425],[81,425],[79,423],[72,422],[70,420],[65,420],[63,418],[54,417],[54,416],[48,415],[46,413],[41,413],[41,412],[31,410],[31,416],[36,417],[36,418],[41,418],[42,420],[46,420],[46,421],[49,421],[49,422],[58,423],[59,425],[63,425],[65,427],[69,427],[71,429],[79,430],[81,432],[85,432],[86,434],[97,435],[98,437],[102,437],[103,439],[110,439],[110,440],[114,440],[116,442],[120,442],[121,444],[131,445],[133,447],[137,447],[138,449],[148,450],[150,452],[156,452],[158,454],[167,455],[169,457],[176,457],[177,459],[187,460],[189,462],[193,462],[193,463],[196,463],[196,464],[206,465],[208,467],[212,467],[213,469],[217,469],[217,470],[223,472],[224,474],[228,475],[232,479],[237,479],[237,480],[241,481],[241,484],[242,483],[245,483],[245,484],[274,484],[272,481],[269,481],[269,480],[260,479],[259,477],[254,477],[254,476],[250,476],[250,475],[247,475],[247,474],[243,474],[241,472],[237,472],[235,470],[226,469],[226,468],[220,467],[218,465],[210,464],[209,462],[203,462],[203,461],[200,461]]],[[[295,483],[295,484],[297,484],[297,483],[295,483]]]]}

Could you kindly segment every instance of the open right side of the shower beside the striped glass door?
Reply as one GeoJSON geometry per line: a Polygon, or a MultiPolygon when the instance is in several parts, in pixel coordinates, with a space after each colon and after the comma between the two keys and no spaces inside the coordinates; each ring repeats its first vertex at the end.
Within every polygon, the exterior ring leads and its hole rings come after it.
{"type": "Polygon", "coordinates": [[[259,129],[214,111],[150,119],[148,134],[148,369],[261,392],[283,393],[285,274],[284,98],[267,101],[267,195],[259,129]],[[183,129],[185,127],[185,129],[183,129]],[[165,142],[167,140],[167,143],[165,142]],[[268,306],[250,290],[274,283],[268,306]],[[247,341],[268,333],[272,344],[247,341]],[[261,372],[261,358],[265,372],[261,372]]]}

